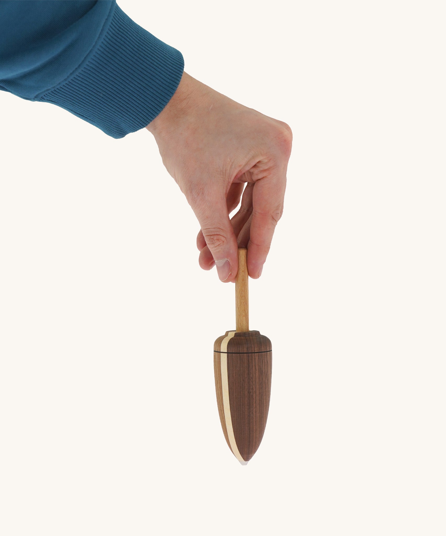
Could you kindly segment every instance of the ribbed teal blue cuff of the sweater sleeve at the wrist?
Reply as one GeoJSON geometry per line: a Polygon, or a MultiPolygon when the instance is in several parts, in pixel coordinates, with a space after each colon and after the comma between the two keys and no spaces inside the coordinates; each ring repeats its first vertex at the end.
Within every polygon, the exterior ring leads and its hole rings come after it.
{"type": "Polygon", "coordinates": [[[182,54],[115,5],[95,48],[73,75],[35,100],[52,102],[122,138],[147,126],[175,93],[182,54]]]}

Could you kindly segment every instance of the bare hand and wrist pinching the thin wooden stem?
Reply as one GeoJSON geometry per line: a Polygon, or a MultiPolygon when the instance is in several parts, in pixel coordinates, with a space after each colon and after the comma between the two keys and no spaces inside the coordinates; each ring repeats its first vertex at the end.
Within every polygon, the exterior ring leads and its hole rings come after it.
{"type": "Polygon", "coordinates": [[[200,223],[202,269],[216,264],[220,280],[233,282],[237,248],[247,247],[248,273],[260,277],[283,212],[290,127],[184,73],[168,105],[146,128],[200,223]]]}

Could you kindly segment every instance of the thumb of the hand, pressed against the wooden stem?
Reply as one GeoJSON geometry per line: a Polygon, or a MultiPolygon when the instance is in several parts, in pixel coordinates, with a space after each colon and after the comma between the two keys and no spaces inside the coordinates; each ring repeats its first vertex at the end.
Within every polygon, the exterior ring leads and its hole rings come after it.
{"type": "Polygon", "coordinates": [[[235,281],[237,260],[237,239],[231,225],[226,199],[209,200],[195,214],[200,222],[206,245],[215,260],[218,278],[224,282],[235,281]]]}

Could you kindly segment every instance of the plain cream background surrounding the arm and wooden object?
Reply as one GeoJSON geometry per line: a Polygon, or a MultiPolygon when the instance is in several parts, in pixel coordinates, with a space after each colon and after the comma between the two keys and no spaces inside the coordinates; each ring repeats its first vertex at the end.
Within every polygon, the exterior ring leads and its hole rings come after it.
{"type": "Polygon", "coordinates": [[[119,5],[293,129],[250,287],[268,425],[242,467],[212,356],[234,287],[149,132],[2,93],[0,532],[444,535],[444,4],[119,5]]]}

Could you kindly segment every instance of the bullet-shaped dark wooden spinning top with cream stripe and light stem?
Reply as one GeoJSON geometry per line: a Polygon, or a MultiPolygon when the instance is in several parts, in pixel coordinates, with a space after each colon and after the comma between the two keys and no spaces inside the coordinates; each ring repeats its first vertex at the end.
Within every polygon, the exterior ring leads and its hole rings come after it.
{"type": "Polygon", "coordinates": [[[262,441],[271,393],[272,347],[268,337],[250,331],[245,248],[238,250],[236,330],[214,343],[214,376],[223,434],[242,465],[262,441]]]}

